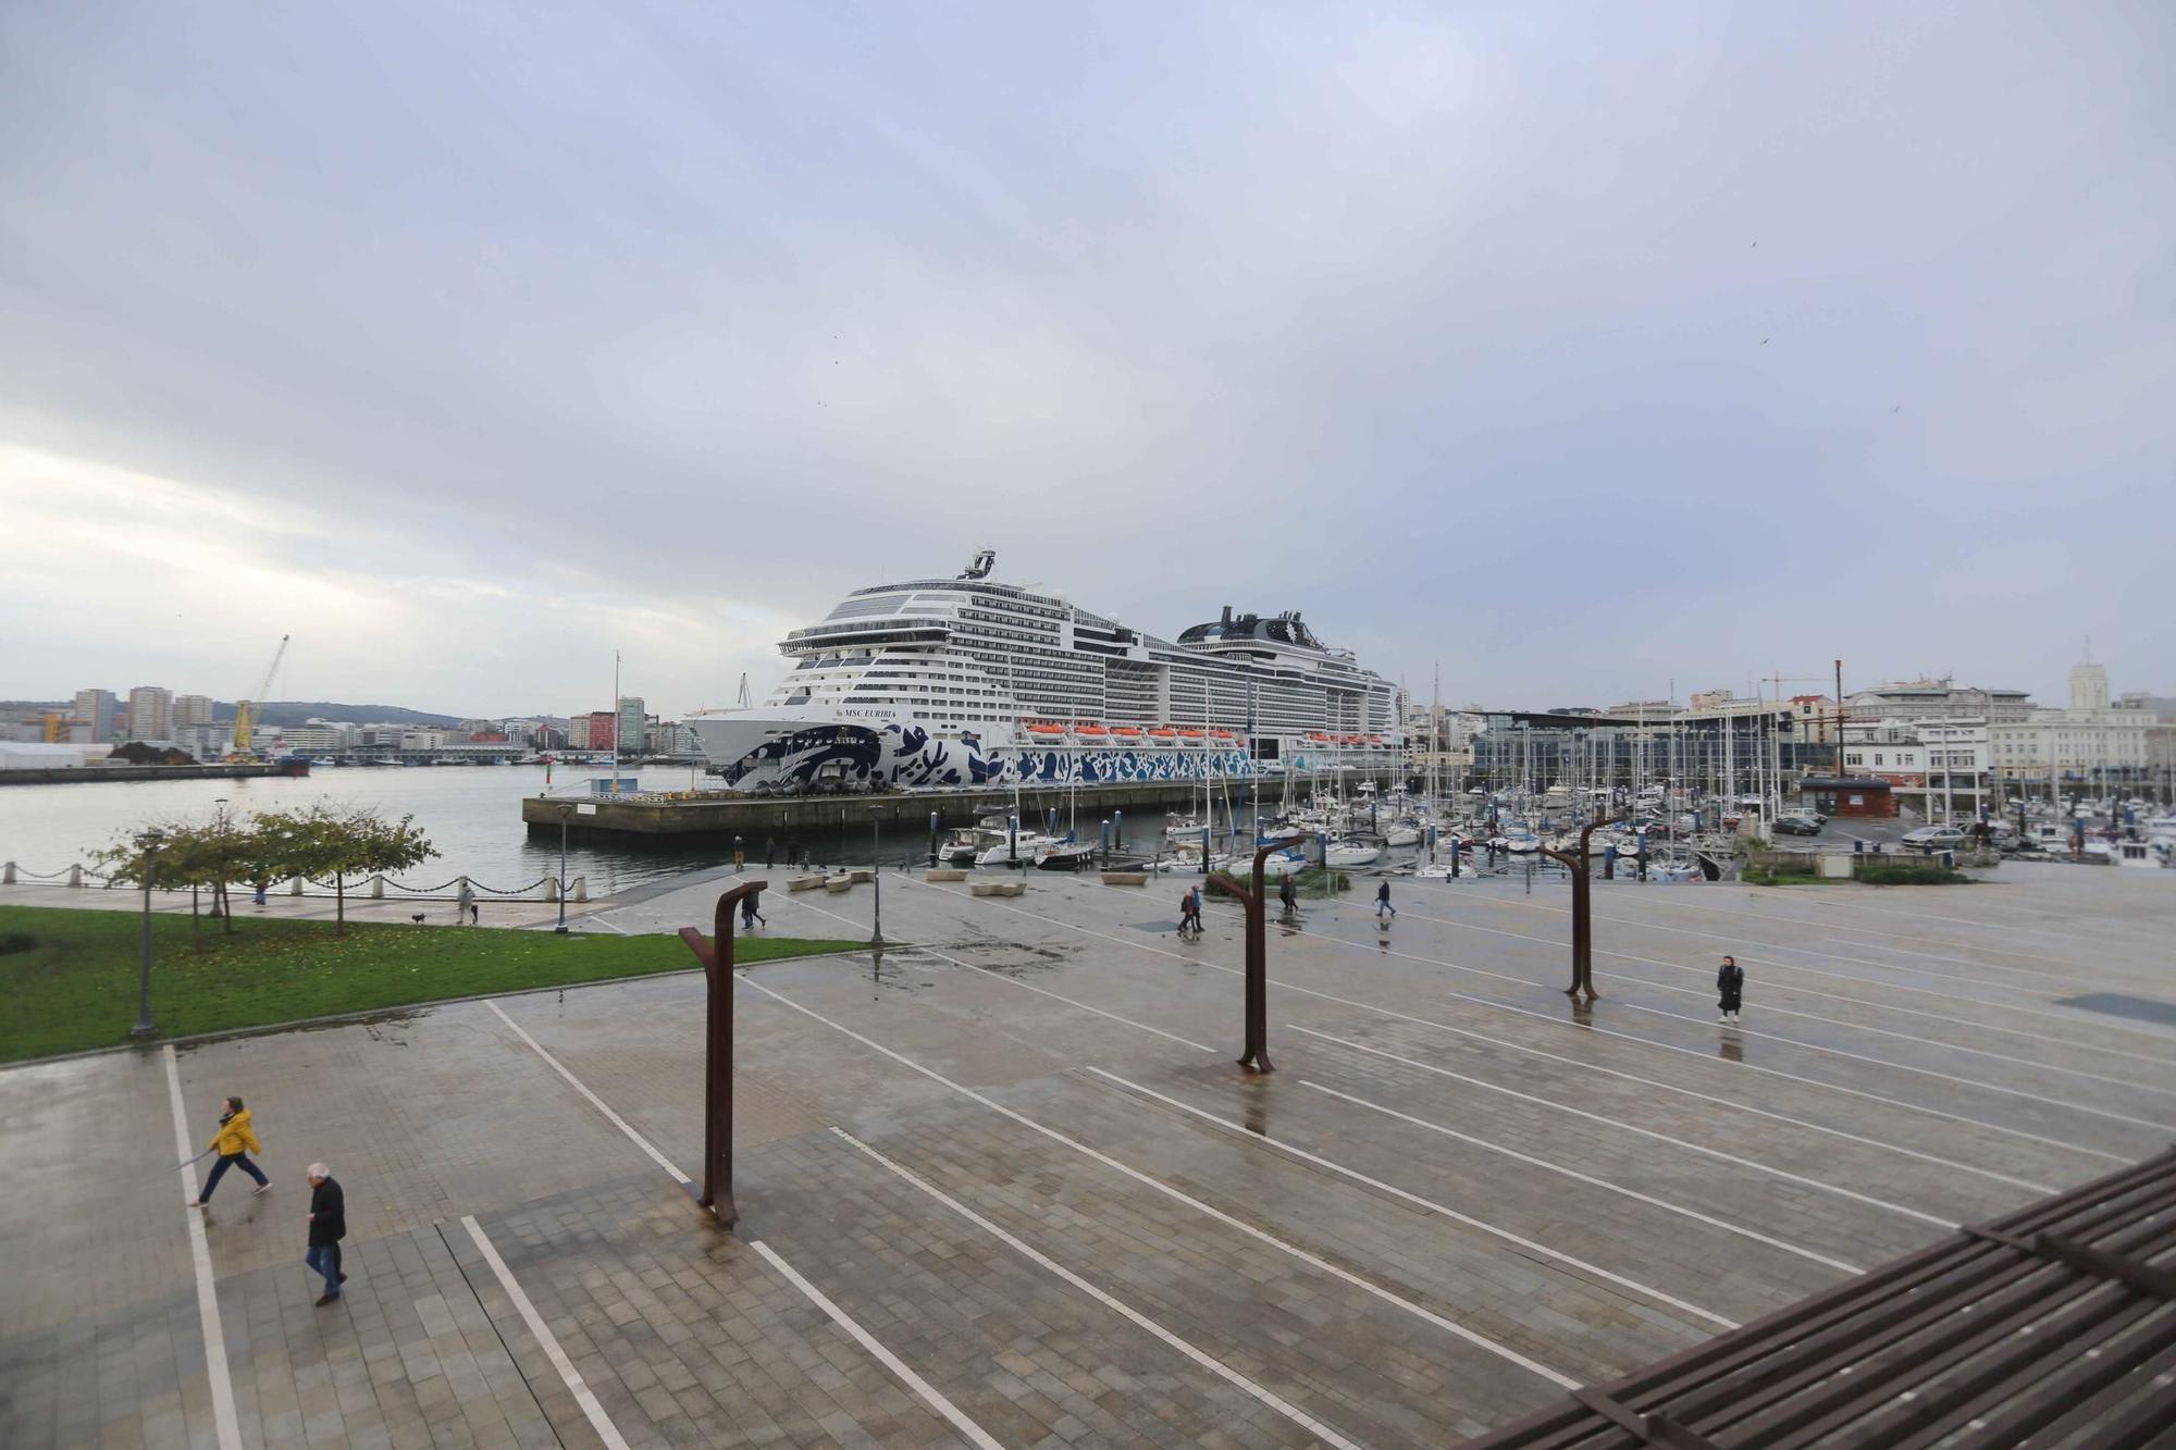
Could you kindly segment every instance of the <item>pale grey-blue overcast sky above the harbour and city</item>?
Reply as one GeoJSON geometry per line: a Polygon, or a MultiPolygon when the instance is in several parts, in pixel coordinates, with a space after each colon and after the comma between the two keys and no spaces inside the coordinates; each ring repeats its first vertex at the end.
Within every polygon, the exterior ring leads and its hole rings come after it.
{"type": "Polygon", "coordinates": [[[0,697],[670,716],[977,544],[1458,703],[2176,692],[2172,74],[2150,0],[0,7],[0,697]]]}

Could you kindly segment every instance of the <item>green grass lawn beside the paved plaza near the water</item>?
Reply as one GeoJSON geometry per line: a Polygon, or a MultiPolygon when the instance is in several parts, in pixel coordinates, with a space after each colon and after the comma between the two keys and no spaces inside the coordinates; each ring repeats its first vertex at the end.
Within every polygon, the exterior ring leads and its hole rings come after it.
{"type": "MultiPolygon", "coordinates": [[[[128,1041],[137,1008],[141,917],[0,906],[0,1062],[128,1041]]],[[[557,936],[418,925],[244,917],[152,917],[150,1015],[159,1036],[224,1032],[300,1017],[368,1012],[444,997],[685,971],[677,936],[557,936]]],[[[742,936],[735,958],[849,951],[862,943],[742,936]]]]}

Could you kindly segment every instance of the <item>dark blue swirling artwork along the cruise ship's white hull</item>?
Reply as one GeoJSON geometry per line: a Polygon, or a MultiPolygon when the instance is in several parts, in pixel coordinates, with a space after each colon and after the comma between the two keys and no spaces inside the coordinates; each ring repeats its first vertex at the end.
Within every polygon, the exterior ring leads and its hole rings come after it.
{"type": "MultiPolygon", "coordinates": [[[[1249,777],[1253,762],[1247,751],[1199,749],[994,749],[984,751],[975,736],[960,740],[934,738],[918,725],[818,725],[766,740],[740,760],[718,771],[729,786],[757,777],[775,782],[814,782],[818,775],[844,775],[851,782],[883,779],[903,790],[918,786],[1116,786],[1136,782],[1177,782],[1210,777],[1249,777]],[[827,766],[844,766],[827,771],[827,766]]],[[[753,782],[751,782],[753,784],[753,782]]]]}

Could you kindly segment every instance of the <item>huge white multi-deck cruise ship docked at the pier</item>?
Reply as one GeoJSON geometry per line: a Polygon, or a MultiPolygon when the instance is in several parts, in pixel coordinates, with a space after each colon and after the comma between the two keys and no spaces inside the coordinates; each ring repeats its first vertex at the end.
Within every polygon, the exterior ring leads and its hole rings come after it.
{"type": "Polygon", "coordinates": [[[794,666],[762,705],[688,716],[712,773],[742,790],[1097,784],[1399,753],[1390,681],[1297,610],[1227,605],[1162,640],[994,568],[984,549],[788,634],[794,666]]]}

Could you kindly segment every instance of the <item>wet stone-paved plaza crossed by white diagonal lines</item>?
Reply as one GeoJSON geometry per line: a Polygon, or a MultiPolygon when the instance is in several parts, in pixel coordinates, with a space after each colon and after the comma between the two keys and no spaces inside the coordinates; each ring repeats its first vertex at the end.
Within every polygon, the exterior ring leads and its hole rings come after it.
{"type": "Polygon", "coordinates": [[[733,1232],[681,1184],[694,973],[4,1071],[0,1443],[1441,1446],[2176,1123],[2176,1025],[2102,1010],[2176,1004],[2176,873],[1597,882],[1591,1010],[1560,886],[1399,882],[1273,927],[1269,1078],[1236,910],[1182,943],[1177,890],[888,875],[914,945],[746,973],[733,1232]],[[226,1093],[276,1187],[194,1215],[226,1093]]]}

